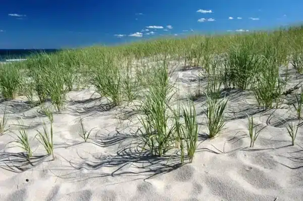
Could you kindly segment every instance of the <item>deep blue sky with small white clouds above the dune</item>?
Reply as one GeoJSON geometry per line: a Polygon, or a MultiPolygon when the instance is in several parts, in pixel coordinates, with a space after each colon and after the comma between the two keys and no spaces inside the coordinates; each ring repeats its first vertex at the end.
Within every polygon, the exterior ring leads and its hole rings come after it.
{"type": "Polygon", "coordinates": [[[303,20],[301,0],[5,0],[0,5],[0,49],[110,45],[272,29],[303,20]]]}

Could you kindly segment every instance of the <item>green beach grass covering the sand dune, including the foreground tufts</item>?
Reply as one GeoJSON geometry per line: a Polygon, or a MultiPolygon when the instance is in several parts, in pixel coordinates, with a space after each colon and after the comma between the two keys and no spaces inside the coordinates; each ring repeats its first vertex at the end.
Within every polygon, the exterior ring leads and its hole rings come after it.
{"type": "MultiPolygon", "coordinates": [[[[176,101],[180,89],[175,86],[178,78],[173,79],[172,75],[198,69],[195,96],[206,96],[208,134],[214,138],[225,126],[229,99],[222,97],[223,90],[246,91],[264,109],[282,105],[289,81],[288,62],[298,74],[303,72],[302,35],[303,26],[293,26],[267,32],[168,37],[121,46],[39,53],[18,64],[2,66],[0,93],[6,99],[24,95],[33,106],[36,99],[42,106],[50,101],[58,112],[65,110],[67,94],[79,88],[93,89],[116,107],[138,100],[142,150],[161,157],[175,147],[181,150],[183,163],[186,149],[191,162],[197,148],[196,105],[186,100],[188,107],[180,109],[180,102],[176,101]],[[283,75],[281,66],[285,66],[283,75]],[[201,84],[204,81],[206,85],[201,84]]],[[[296,101],[301,119],[298,95],[296,101]]],[[[38,139],[54,159],[54,117],[50,111],[45,110],[44,114],[51,121],[51,131],[43,123],[38,139]]],[[[253,147],[260,131],[253,129],[252,116],[248,124],[253,147]]],[[[4,126],[0,124],[1,129],[4,126]]],[[[82,119],[81,126],[86,142],[91,130],[84,130],[82,119]]],[[[291,125],[287,129],[294,144],[298,127],[291,125]]],[[[25,132],[22,135],[25,137],[25,132]]]]}

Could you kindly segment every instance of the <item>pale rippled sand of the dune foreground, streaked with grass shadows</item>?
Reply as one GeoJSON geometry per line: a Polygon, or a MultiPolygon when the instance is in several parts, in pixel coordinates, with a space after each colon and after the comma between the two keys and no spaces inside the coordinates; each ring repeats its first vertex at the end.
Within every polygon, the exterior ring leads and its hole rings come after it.
{"type": "MultiPolygon", "coordinates": [[[[181,95],[185,96],[196,70],[178,71],[181,95]]],[[[297,79],[292,78],[295,85],[297,79]]],[[[9,124],[20,117],[30,125],[34,156],[26,161],[19,148],[8,144],[11,131],[0,136],[0,200],[303,200],[303,135],[299,128],[291,145],[286,123],[288,106],[262,112],[249,92],[230,92],[227,123],[222,134],[205,139],[206,119],[195,101],[199,125],[199,146],[193,162],[179,167],[179,158],[159,159],[140,155],[131,107],[123,110],[102,107],[93,90],[68,94],[67,108],[55,115],[55,161],[46,156],[36,139],[43,115],[24,101],[1,103],[10,110],[9,124]],[[73,100],[73,101],[71,101],[73,100]],[[117,118],[128,112],[130,120],[117,118]],[[248,148],[247,113],[256,113],[255,122],[267,125],[254,148],[248,148]],[[95,127],[84,143],[79,136],[79,113],[86,129],[95,127]],[[118,130],[118,132],[116,131],[118,130]],[[19,154],[18,154],[19,153],[19,154]],[[26,181],[28,179],[28,181],[26,181]]],[[[289,96],[291,97],[291,96],[289,96]]],[[[1,110],[2,111],[2,110],[1,110]]],[[[3,113],[3,112],[2,112],[3,113]]],[[[292,113],[295,115],[295,113],[292,113]]]]}

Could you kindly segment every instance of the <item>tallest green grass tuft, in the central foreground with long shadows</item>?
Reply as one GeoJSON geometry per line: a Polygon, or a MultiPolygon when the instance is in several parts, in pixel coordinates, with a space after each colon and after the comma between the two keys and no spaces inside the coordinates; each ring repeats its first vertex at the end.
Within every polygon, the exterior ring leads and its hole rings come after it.
{"type": "MultiPolygon", "coordinates": [[[[141,75],[142,76],[142,75],[141,75]]],[[[139,117],[144,130],[141,139],[152,155],[163,156],[171,147],[174,126],[169,127],[169,103],[173,97],[173,86],[169,83],[168,63],[164,59],[155,66],[151,74],[145,74],[148,90],[141,109],[144,115],[139,117]]]]}

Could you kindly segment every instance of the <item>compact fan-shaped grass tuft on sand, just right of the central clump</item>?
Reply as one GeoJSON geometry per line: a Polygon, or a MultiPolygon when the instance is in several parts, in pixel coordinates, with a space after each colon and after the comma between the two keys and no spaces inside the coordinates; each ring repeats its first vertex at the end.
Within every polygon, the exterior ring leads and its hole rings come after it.
{"type": "Polygon", "coordinates": [[[225,125],[224,110],[226,108],[227,99],[216,99],[208,97],[207,99],[207,126],[209,129],[209,137],[214,138],[222,130],[225,125]]]}

